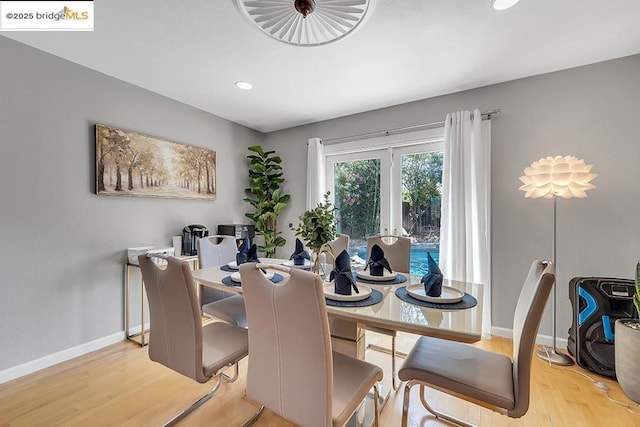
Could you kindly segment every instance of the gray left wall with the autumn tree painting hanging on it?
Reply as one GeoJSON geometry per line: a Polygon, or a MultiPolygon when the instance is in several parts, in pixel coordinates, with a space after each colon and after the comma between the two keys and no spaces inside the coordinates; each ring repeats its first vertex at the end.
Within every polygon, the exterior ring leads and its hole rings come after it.
{"type": "Polygon", "coordinates": [[[125,248],[244,221],[263,135],[4,37],[0,57],[2,371],[122,331],[125,248]],[[216,150],[217,200],[92,194],[95,123],[216,150]]]}

